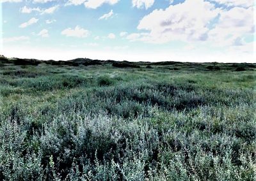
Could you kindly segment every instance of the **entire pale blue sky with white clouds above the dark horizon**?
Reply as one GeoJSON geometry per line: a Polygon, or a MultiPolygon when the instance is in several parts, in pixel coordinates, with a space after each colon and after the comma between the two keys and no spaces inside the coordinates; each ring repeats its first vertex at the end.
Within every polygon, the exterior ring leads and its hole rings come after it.
{"type": "Polygon", "coordinates": [[[256,62],[256,0],[0,0],[0,54],[256,62]]]}

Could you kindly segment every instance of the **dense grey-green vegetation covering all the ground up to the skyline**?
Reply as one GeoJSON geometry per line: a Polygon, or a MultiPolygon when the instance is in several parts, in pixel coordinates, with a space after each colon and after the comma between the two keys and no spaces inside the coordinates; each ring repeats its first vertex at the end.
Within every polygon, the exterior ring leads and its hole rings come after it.
{"type": "Polygon", "coordinates": [[[0,60],[0,180],[256,180],[255,64],[0,60]]]}

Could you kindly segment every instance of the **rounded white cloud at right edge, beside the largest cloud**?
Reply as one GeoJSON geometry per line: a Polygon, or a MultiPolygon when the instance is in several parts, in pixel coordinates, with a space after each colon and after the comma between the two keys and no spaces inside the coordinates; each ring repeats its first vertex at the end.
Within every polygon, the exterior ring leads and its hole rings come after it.
{"type": "Polygon", "coordinates": [[[243,36],[254,31],[253,7],[236,7],[221,11],[218,24],[209,32],[209,37],[218,45],[241,46],[245,43],[243,36]]]}

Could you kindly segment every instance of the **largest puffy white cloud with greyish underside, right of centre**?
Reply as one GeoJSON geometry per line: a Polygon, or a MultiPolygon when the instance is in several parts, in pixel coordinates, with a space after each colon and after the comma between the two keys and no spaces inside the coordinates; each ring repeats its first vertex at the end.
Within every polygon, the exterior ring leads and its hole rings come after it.
{"type": "MultiPolygon", "coordinates": [[[[204,0],[187,0],[170,5],[166,10],[154,10],[140,20],[138,29],[149,33],[137,34],[136,38],[151,43],[165,43],[172,40],[207,40],[209,22],[218,17],[220,9],[204,0]],[[195,9],[191,7],[196,7],[195,9]]],[[[135,37],[133,34],[132,36],[135,37]]],[[[131,37],[130,37],[131,38],[131,37]]]]}

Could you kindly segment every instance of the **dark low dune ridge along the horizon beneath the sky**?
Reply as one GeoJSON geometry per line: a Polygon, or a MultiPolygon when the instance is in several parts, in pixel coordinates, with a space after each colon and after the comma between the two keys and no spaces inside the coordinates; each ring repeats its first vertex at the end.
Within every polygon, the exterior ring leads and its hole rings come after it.
{"type": "MultiPolygon", "coordinates": [[[[51,65],[65,65],[65,66],[96,66],[112,64],[116,68],[141,68],[141,66],[185,66],[190,68],[205,69],[209,71],[220,71],[225,69],[233,69],[234,71],[245,71],[246,69],[256,68],[256,64],[253,63],[220,63],[220,62],[175,62],[175,61],[164,61],[164,62],[129,62],[129,61],[113,61],[107,60],[102,61],[98,59],[88,58],[77,58],[69,61],[42,61],[38,59],[19,59],[19,58],[7,58],[4,55],[0,55],[0,65],[4,64],[15,64],[15,65],[31,65],[37,66],[38,64],[51,64],[51,65]]],[[[174,67],[173,70],[179,70],[174,67]]]]}

